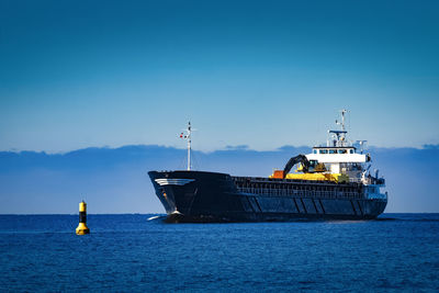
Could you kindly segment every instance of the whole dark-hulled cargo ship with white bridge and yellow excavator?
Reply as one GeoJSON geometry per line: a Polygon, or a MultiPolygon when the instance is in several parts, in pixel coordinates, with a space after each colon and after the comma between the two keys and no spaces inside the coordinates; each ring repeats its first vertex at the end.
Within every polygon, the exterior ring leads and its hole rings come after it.
{"type": "Polygon", "coordinates": [[[230,176],[191,168],[191,124],[180,135],[188,140],[188,168],[148,172],[167,222],[280,222],[296,219],[373,219],[383,213],[387,192],[365,140],[347,139],[345,116],[340,129],[328,131],[325,145],[297,155],[268,177],[230,176]],[[291,172],[291,170],[294,171],[291,172]]]}

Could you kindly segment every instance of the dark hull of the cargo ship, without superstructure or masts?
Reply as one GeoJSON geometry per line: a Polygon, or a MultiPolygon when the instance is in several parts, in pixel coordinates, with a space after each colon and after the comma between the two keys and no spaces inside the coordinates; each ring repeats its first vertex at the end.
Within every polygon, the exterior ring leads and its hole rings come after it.
{"type": "Polygon", "coordinates": [[[150,171],[171,223],[372,219],[387,201],[367,199],[361,184],[150,171]]]}

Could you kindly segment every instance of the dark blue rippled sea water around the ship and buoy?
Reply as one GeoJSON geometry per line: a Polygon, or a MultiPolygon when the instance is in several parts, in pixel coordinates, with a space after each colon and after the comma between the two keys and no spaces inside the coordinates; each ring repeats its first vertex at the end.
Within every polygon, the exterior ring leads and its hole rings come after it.
{"type": "Polygon", "coordinates": [[[150,215],[0,216],[4,291],[438,291],[439,214],[164,224],[150,215]]]}

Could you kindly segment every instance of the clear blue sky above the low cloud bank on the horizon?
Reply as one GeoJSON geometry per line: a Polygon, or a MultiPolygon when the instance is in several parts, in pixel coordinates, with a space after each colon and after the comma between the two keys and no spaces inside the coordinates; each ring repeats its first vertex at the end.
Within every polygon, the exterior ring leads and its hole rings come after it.
{"type": "Polygon", "coordinates": [[[437,1],[0,2],[0,150],[439,144],[437,1]]]}

